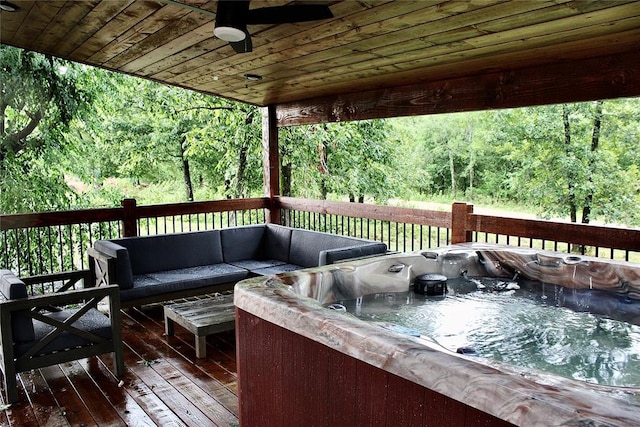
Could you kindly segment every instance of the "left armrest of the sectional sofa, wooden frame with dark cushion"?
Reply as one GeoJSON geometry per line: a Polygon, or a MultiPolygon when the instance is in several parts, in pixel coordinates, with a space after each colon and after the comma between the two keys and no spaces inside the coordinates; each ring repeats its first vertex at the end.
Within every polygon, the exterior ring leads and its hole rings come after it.
{"type": "Polygon", "coordinates": [[[89,268],[97,286],[117,284],[120,289],[133,287],[133,272],[127,248],[108,240],[99,240],[94,247],[89,248],[88,254],[89,268]]]}

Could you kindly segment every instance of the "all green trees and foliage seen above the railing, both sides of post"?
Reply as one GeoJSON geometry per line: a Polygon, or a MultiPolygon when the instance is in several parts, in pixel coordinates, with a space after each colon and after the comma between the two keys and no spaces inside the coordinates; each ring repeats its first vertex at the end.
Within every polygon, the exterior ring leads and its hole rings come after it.
{"type": "MultiPolygon", "coordinates": [[[[262,194],[255,106],[7,46],[0,73],[2,212],[262,194]]],[[[640,100],[622,99],[281,128],[282,190],[639,225],[639,123],[640,100]]]]}

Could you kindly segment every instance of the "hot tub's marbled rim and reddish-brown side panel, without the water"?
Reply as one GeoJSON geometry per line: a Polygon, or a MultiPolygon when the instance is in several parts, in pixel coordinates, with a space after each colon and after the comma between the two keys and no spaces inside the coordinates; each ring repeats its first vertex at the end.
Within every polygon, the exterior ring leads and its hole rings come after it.
{"type": "Polygon", "coordinates": [[[457,354],[326,308],[362,295],[406,292],[424,274],[517,276],[611,292],[629,307],[640,305],[636,264],[482,244],[248,279],[235,289],[241,424],[640,424],[638,388],[457,354]]]}

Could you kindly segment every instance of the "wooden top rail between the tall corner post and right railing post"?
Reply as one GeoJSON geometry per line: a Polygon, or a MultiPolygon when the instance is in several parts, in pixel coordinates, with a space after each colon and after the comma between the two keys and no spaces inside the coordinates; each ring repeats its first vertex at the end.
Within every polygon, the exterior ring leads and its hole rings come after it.
{"type": "Polygon", "coordinates": [[[425,209],[379,206],[367,203],[299,199],[294,197],[275,198],[275,207],[322,214],[361,217],[381,221],[430,225],[434,227],[449,228],[451,226],[451,212],[430,211],[425,209]]]}

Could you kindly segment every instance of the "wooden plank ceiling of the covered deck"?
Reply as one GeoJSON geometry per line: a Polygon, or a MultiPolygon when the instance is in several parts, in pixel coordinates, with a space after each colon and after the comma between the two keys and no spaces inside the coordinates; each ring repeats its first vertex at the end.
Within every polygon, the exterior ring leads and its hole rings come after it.
{"type": "Polygon", "coordinates": [[[640,45],[636,0],[330,1],[333,19],[249,26],[253,52],[243,54],[213,36],[217,1],[11,2],[20,10],[0,13],[3,44],[260,106],[640,45]]]}

